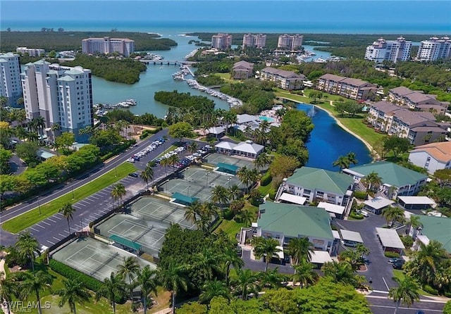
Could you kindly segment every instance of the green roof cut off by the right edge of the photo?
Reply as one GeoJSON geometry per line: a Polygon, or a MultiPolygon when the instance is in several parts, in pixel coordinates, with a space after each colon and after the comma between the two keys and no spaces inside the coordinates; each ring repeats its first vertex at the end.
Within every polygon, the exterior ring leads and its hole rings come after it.
{"type": "Polygon", "coordinates": [[[451,218],[431,217],[419,215],[423,224],[421,234],[428,237],[429,240],[437,240],[443,244],[443,248],[451,253],[451,218]]]}

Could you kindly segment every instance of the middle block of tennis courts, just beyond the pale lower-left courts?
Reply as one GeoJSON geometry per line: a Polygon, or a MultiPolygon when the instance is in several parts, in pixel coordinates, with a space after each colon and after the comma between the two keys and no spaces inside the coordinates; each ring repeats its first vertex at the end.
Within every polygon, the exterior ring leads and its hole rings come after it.
{"type": "Polygon", "coordinates": [[[129,214],[116,214],[97,225],[101,236],[122,237],[141,245],[142,251],[158,257],[163,245],[164,234],[171,224],[195,229],[192,222],[185,220],[185,211],[180,206],[156,199],[142,197],[130,204],[129,214]]]}

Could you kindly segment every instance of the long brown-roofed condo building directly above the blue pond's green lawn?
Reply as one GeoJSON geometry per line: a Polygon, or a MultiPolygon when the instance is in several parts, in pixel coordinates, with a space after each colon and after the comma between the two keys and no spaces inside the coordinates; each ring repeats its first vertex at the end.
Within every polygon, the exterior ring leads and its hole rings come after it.
{"type": "Polygon", "coordinates": [[[325,74],[319,77],[318,89],[354,100],[366,100],[376,94],[377,87],[364,80],[325,74]]]}

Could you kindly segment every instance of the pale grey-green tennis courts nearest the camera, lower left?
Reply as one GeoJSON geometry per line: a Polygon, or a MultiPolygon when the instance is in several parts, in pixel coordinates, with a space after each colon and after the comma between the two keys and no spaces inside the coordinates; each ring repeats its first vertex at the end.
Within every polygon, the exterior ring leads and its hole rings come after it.
{"type": "MultiPolygon", "coordinates": [[[[135,255],[116,246],[85,237],[64,246],[54,253],[52,258],[103,282],[105,278],[110,277],[111,272],[117,272],[118,265],[129,256],[135,255]]],[[[137,258],[137,261],[141,267],[150,265],[152,269],[156,268],[156,265],[142,258],[137,258]]]]}

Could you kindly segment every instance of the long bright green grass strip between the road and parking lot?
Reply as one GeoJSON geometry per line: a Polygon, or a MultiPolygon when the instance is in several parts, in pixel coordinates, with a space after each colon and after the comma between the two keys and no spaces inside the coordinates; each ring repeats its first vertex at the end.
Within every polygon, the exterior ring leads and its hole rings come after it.
{"type": "Polygon", "coordinates": [[[53,201],[49,201],[49,203],[41,204],[40,210],[39,207],[32,209],[31,211],[27,211],[22,215],[18,215],[11,220],[4,222],[1,225],[4,230],[11,233],[18,233],[22,230],[27,229],[35,223],[44,220],[51,215],[58,213],[58,211],[63,207],[66,203],[77,203],[82,199],[87,198],[88,196],[100,191],[108,187],[110,184],[117,182],[118,180],[126,177],[130,172],[134,172],[136,170],[135,165],[131,163],[123,163],[118,165],[116,169],[110,170],[106,172],[101,177],[98,177],[96,180],[92,180],[91,182],[79,187],[78,189],[69,191],[67,194],[58,197],[58,199],[54,199],[53,201]],[[75,196],[72,198],[72,196],[75,196]],[[39,215],[40,212],[40,215],[39,215]]]}

